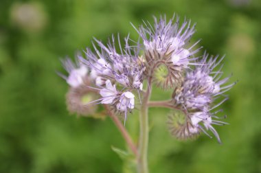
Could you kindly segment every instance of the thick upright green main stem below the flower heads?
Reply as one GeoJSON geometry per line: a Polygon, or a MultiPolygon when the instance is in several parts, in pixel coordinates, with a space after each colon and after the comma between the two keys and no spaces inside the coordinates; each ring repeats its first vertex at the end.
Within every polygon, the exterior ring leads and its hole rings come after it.
{"type": "MultiPolygon", "coordinates": [[[[151,87],[150,82],[148,85],[151,87]]],[[[148,173],[148,101],[150,100],[150,89],[148,87],[141,104],[139,113],[139,154],[137,170],[139,173],[148,173]]]]}

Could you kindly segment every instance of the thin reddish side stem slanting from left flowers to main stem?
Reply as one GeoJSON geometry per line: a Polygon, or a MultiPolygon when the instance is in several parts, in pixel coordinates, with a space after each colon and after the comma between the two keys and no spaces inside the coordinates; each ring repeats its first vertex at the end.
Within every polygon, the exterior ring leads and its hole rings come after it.
{"type": "Polygon", "coordinates": [[[122,136],[124,137],[126,143],[128,144],[128,147],[131,148],[131,150],[133,151],[133,154],[135,154],[135,157],[137,157],[138,156],[137,147],[133,143],[133,140],[131,139],[131,136],[128,134],[126,128],[122,125],[122,122],[120,122],[120,120],[117,118],[117,116],[111,112],[108,105],[104,104],[104,107],[106,108],[106,111],[108,112],[111,119],[113,119],[113,122],[115,123],[117,128],[122,133],[122,136]]]}

